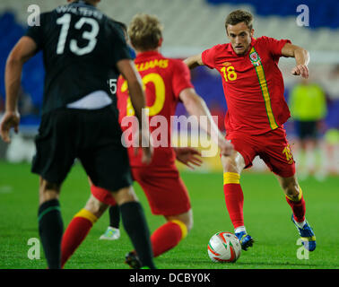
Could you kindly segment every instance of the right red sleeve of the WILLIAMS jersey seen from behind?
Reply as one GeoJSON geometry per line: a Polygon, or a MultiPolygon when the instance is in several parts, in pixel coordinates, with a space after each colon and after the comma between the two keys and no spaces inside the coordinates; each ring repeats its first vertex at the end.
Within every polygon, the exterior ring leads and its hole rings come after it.
{"type": "Polygon", "coordinates": [[[172,89],[176,98],[178,98],[181,91],[187,88],[193,88],[191,83],[191,74],[187,65],[183,61],[176,60],[173,70],[172,89]]]}

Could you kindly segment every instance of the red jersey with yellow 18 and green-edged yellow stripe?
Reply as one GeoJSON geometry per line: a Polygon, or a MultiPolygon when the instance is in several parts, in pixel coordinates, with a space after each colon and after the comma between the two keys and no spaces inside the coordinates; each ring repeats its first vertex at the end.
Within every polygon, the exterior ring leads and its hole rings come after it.
{"type": "Polygon", "coordinates": [[[216,45],[202,54],[204,65],[222,75],[227,102],[225,127],[250,135],[264,134],[282,126],[290,117],[283,97],[282,73],[278,67],[288,39],[253,39],[246,55],[237,55],[231,44],[216,45]]]}

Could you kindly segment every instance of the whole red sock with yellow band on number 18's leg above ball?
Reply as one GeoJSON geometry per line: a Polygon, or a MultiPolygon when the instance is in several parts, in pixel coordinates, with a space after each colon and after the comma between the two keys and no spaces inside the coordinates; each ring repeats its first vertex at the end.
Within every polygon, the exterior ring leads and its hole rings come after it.
{"type": "Polygon", "coordinates": [[[240,175],[238,173],[225,172],[223,174],[223,192],[234,229],[244,226],[244,195],[240,187],[240,175]]]}

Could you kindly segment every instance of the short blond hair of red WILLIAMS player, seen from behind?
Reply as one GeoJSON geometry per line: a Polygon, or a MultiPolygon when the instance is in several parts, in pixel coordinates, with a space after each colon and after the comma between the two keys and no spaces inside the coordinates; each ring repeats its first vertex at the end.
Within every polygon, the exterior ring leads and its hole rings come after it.
{"type": "Polygon", "coordinates": [[[158,48],[162,30],[157,16],[137,13],[129,23],[127,33],[135,49],[147,51],[158,48]]]}

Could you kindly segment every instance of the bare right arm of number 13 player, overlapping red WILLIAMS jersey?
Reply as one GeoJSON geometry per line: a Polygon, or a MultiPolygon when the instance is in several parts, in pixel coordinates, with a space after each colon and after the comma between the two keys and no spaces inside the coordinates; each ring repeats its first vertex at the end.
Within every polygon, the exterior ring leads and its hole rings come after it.
{"type": "Polygon", "coordinates": [[[139,136],[139,146],[143,147],[143,163],[150,163],[152,160],[152,144],[148,120],[147,117],[143,115],[145,112],[145,97],[140,74],[137,72],[135,64],[129,59],[118,61],[117,68],[128,83],[132,106],[135,109],[135,116],[139,121],[139,130],[141,132],[141,136],[139,136]]]}

